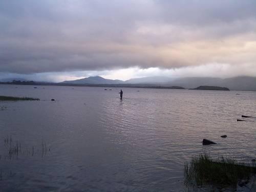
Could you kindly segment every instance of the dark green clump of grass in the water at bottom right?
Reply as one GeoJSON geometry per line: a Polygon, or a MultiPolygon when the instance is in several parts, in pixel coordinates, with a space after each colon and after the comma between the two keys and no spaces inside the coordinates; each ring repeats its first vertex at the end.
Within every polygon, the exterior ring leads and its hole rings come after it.
{"type": "Polygon", "coordinates": [[[194,156],[184,165],[185,185],[217,185],[236,187],[241,180],[249,181],[256,166],[232,158],[212,158],[207,153],[194,156]]]}

